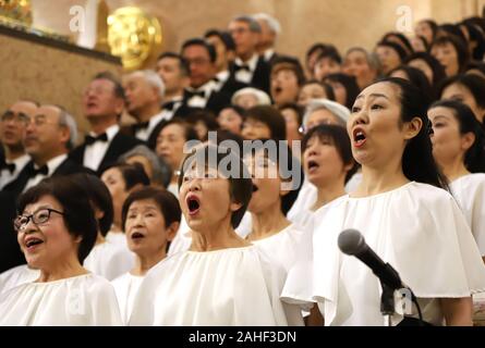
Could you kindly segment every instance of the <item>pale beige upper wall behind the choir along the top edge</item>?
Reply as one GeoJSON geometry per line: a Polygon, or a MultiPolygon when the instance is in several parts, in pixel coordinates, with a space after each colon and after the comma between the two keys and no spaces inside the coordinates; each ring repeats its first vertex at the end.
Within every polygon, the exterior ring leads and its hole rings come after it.
{"type": "MultiPolygon", "coordinates": [[[[86,0],[32,0],[36,24],[69,32],[69,9],[86,0]]],[[[373,48],[383,33],[396,29],[400,5],[412,9],[413,20],[434,17],[454,22],[478,13],[484,0],[107,0],[110,10],[137,5],[156,15],[162,25],[162,50],[178,50],[184,39],[209,27],[225,28],[237,14],[267,12],[281,22],[278,50],[303,58],[315,41],[373,48]]]]}

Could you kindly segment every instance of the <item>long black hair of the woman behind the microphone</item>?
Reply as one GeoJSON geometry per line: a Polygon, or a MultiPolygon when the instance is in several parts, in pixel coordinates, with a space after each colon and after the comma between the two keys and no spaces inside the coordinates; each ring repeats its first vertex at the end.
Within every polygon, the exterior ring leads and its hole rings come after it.
{"type": "Polygon", "coordinates": [[[405,177],[410,181],[448,189],[446,177],[440,173],[433,158],[429,139],[433,128],[426,113],[428,107],[426,97],[417,87],[402,78],[386,77],[377,83],[391,84],[399,89],[401,122],[411,122],[414,117],[420,117],[423,121],[420,133],[408,140],[402,154],[402,171],[405,177]]]}

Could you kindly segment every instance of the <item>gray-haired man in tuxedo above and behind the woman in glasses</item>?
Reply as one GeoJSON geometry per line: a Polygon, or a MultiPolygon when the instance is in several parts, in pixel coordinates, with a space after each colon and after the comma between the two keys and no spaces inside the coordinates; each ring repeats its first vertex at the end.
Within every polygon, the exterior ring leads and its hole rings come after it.
{"type": "Polygon", "coordinates": [[[46,177],[80,172],[93,173],[68,157],[69,150],[75,146],[76,138],[76,122],[62,107],[44,104],[37,108],[26,126],[23,141],[32,161],[4,189],[16,196],[46,177]]]}

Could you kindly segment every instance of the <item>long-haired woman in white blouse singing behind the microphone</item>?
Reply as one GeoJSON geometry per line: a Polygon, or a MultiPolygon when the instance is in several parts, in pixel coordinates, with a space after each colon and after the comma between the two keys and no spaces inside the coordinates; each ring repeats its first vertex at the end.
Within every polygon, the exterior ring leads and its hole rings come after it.
{"type": "MultiPolygon", "coordinates": [[[[471,325],[471,295],[485,289],[485,268],[459,207],[441,188],[423,96],[407,80],[385,78],[359,95],[347,128],[362,183],[314,216],[310,293],[325,324],[385,324],[378,278],[338,248],[340,233],[356,228],[413,289],[424,321],[471,325]]],[[[402,319],[395,314],[391,323],[402,319]]]]}

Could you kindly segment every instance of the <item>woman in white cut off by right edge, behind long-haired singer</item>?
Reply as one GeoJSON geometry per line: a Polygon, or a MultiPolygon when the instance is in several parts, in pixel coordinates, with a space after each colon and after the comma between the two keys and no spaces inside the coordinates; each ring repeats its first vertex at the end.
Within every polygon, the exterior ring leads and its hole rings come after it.
{"type": "Polygon", "coordinates": [[[473,111],[454,100],[435,102],[433,156],[450,182],[450,189],[469,222],[485,260],[485,137],[473,111]]]}

